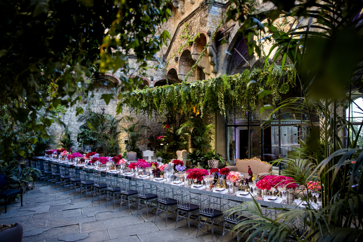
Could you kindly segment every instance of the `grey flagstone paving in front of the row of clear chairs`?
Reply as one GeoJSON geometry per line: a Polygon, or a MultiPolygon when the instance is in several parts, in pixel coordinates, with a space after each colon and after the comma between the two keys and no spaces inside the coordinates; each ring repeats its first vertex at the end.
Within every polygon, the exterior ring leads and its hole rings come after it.
{"type": "MultiPolygon", "coordinates": [[[[23,242],[209,242],[212,241],[211,230],[202,226],[198,238],[197,223],[191,225],[190,235],[185,219],[180,220],[174,231],[175,216],[168,217],[165,227],[165,213],[155,218],[155,211],[136,216],[137,207],[129,210],[112,203],[106,207],[106,200],[76,197],[69,191],[55,190],[50,185],[36,184],[34,190],[27,191],[23,197],[23,207],[20,201],[8,205],[5,214],[4,206],[0,206],[0,224],[20,222],[23,225],[23,242]]],[[[145,208],[141,210],[145,211],[145,208]]],[[[220,242],[221,228],[214,232],[213,241],[220,242]]],[[[246,237],[242,238],[244,241],[246,237]]],[[[224,242],[237,242],[233,235],[227,232],[224,242]]]]}

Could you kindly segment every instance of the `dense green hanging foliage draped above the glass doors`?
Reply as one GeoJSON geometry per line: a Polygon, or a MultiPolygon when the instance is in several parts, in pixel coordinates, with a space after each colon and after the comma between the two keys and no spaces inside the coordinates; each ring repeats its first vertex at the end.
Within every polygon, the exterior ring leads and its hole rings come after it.
{"type": "Polygon", "coordinates": [[[276,104],[280,100],[279,86],[294,85],[291,66],[286,65],[283,70],[280,69],[283,72],[281,78],[280,73],[270,72],[270,68],[281,67],[272,65],[265,70],[245,70],[242,74],[233,76],[223,75],[203,81],[138,89],[132,98],[131,108],[136,113],[146,113],[149,117],[153,113],[164,117],[165,112],[187,116],[203,116],[218,110],[225,116],[232,109],[254,112],[260,103],[258,93],[261,90],[271,89],[272,102],[276,104]],[[251,84],[251,80],[256,83],[251,84]]]}

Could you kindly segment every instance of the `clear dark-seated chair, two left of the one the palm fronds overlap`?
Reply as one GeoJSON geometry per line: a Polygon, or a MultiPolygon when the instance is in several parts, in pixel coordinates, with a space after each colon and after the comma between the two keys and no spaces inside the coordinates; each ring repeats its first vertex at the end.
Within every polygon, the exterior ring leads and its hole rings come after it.
{"type": "Polygon", "coordinates": [[[188,235],[190,235],[191,223],[197,220],[194,219],[192,222],[190,222],[190,214],[197,212],[199,210],[199,206],[192,204],[191,200],[192,200],[192,194],[190,192],[183,190],[176,190],[176,201],[178,202],[177,203],[178,206],[175,212],[176,222],[174,230],[176,230],[176,227],[178,226],[178,221],[182,218],[185,218],[187,219],[187,224],[188,224],[188,235]],[[179,215],[179,213],[181,213],[181,215],[179,215]]]}

